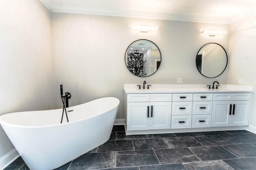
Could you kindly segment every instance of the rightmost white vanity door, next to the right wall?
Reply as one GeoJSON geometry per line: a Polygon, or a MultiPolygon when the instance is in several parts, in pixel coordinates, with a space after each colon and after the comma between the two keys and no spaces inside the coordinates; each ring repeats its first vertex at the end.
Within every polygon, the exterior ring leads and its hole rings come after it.
{"type": "Polygon", "coordinates": [[[230,126],[244,126],[249,123],[250,101],[233,101],[230,126]]]}

